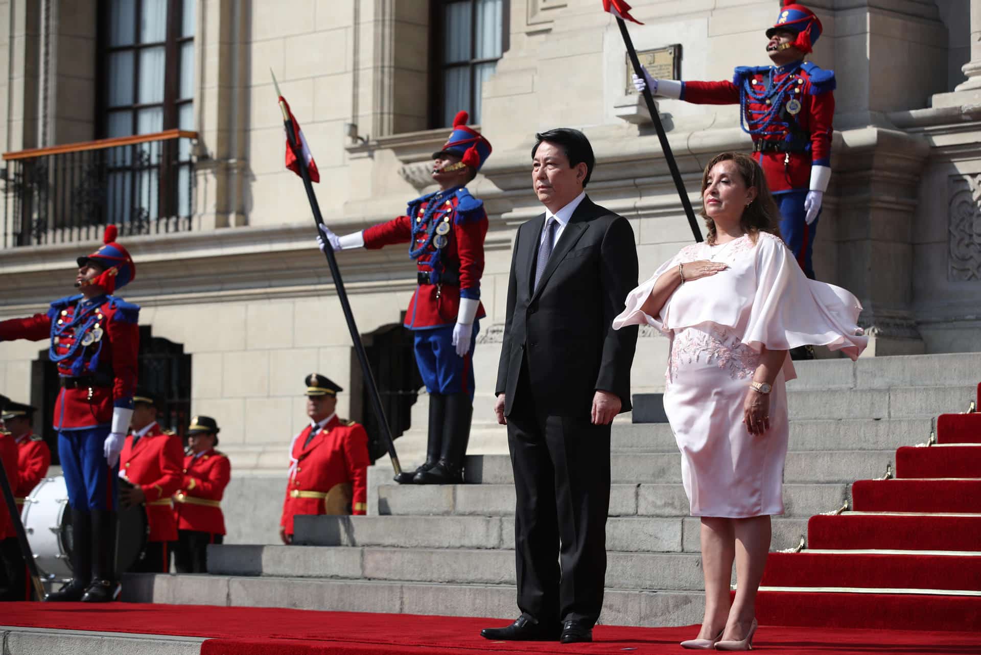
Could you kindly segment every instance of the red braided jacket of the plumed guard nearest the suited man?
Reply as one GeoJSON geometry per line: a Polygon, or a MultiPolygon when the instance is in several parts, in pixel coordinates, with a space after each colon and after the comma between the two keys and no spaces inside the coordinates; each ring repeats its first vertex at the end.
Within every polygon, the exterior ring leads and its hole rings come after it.
{"type": "MultiPolygon", "coordinates": [[[[427,196],[423,196],[426,198],[427,196]]],[[[481,277],[484,275],[484,237],[488,232],[488,216],[484,203],[477,200],[465,188],[446,197],[439,194],[428,200],[409,203],[409,216],[399,216],[362,232],[365,248],[377,249],[393,243],[411,243],[410,251],[419,250],[416,267],[420,274],[430,275],[434,268],[458,274],[459,284],[420,284],[412,294],[405,312],[405,327],[426,329],[452,326],[460,308],[460,297],[480,300],[481,277]],[[426,217],[430,203],[439,199],[437,207],[426,217]],[[438,248],[439,224],[449,226],[445,233],[445,247],[438,248]],[[413,226],[416,233],[413,235],[413,226]],[[430,232],[433,232],[432,234],[430,232]],[[431,240],[431,237],[432,240],[431,240]],[[427,241],[430,241],[427,245],[427,241]]],[[[476,319],[487,313],[484,305],[477,309],[476,319]]]]}

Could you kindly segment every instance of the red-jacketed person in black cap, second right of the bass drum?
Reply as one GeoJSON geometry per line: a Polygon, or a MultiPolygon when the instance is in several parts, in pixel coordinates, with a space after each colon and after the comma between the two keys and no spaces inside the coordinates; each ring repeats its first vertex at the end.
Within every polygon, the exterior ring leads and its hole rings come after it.
{"type": "Polygon", "coordinates": [[[232,463],[215,450],[220,431],[210,416],[194,417],[187,428],[183,480],[174,495],[178,521],[174,565],[178,573],[208,573],[208,544],[225,539],[222,496],[232,479],[232,463]]]}

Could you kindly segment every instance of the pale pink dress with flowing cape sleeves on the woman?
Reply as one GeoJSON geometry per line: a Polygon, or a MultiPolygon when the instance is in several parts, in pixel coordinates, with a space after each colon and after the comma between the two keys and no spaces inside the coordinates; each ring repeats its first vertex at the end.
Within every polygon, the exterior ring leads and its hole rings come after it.
{"type": "Polygon", "coordinates": [[[868,339],[856,326],[861,305],[849,291],[804,277],[779,237],[760,233],[709,246],[696,243],[661,265],[627,297],[613,327],[645,324],[671,339],[664,410],[682,453],[682,481],[693,516],[782,514],[790,426],[786,359],[770,396],[770,428],[749,433],[743,403],[763,346],[825,345],[856,359],[868,339]],[[729,265],[685,282],[656,317],[641,310],[654,282],[678,264],[729,265]]]}

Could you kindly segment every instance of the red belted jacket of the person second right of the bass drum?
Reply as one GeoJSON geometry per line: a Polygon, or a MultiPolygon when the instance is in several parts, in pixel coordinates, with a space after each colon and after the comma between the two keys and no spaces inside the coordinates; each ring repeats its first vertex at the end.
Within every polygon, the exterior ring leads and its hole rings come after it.
{"type": "Polygon", "coordinates": [[[232,463],[214,448],[198,457],[184,456],[181,488],[174,494],[178,529],[225,534],[221,502],[232,479],[232,463]]]}

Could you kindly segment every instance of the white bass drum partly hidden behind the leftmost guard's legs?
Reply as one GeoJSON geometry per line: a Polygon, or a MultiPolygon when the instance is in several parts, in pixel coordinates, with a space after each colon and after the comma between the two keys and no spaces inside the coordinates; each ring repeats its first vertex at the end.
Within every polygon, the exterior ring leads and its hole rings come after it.
{"type": "MultiPolygon", "coordinates": [[[[121,482],[123,480],[120,480],[121,482]]],[[[67,512],[65,477],[45,478],[27,496],[21,519],[38,573],[56,581],[72,578],[72,513],[67,512]]],[[[146,508],[134,505],[119,512],[116,533],[116,571],[129,571],[143,555],[150,535],[146,508]]]]}

